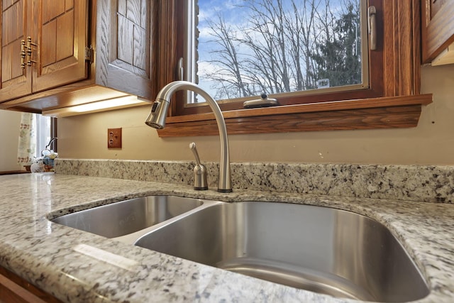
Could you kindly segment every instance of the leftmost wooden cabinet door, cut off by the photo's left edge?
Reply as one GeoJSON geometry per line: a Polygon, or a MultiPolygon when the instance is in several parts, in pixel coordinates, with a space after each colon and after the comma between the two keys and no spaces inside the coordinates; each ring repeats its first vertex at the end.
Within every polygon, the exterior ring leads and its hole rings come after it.
{"type": "Polygon", "coordinates": [[[21,50],[25,52],[21,41],[25,42],[31,26],[26,17],[30,11],[26,0],[1,1],[0,102],[31,94],[31,68],[26,53],[21,55],[21,50]]]}

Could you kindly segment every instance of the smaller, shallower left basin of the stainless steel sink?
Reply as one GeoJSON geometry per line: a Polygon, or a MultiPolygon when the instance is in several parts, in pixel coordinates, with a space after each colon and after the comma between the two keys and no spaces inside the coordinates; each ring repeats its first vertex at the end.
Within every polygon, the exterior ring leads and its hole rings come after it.
{"type": "Polygon", "coordinates": [[[51,221],[116,238],[143,230],[201,206],[199,199],[149,196],[128,199],[59,216],[51,221]]]}

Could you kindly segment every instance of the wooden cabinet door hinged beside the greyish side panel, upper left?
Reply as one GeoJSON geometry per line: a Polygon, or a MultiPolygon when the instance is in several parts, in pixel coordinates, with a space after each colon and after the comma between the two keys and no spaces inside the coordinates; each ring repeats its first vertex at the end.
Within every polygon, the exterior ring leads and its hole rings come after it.
{"type": "Polygon", "coordinates": [[[33,1],[33,92],[88,77],[87,0],[33,1]]]}

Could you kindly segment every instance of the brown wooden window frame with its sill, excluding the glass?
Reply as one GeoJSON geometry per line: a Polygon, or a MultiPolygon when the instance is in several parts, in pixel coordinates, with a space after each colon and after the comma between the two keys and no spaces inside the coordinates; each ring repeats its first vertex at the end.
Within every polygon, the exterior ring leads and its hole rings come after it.
{"type": "MultiPolygon", "coordinates": [[[[155,7],[156,92],[179,77],[177,63],[184,57],[187,35],[184,3],[162,0],[155,7]]],[[[421,105],[431,103],[430,94],[419,94],[420,1],[369,0],[367,4],[377,11],[377,49],[368,52],[367,88],[282,97],[282,106],[265,109],[243,109],[242,102],[223,102],[220,106],[228,133],[416,126],[421,105]]],[[[158,133],[216,135],[217,129],[208,106],[187,106],[184,94],[177,94],[167,126],[158,133]]]]}

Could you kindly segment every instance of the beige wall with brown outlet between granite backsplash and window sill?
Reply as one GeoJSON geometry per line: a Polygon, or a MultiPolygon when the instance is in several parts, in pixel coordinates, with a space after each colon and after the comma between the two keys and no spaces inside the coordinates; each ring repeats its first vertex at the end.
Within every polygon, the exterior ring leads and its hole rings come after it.
{"type": "MultiPolygon", "coordinates": [[[[423,67],[422,93],[433,93],[419,126],[406,129],[323,131],[230,136],[233,162],[350,162],[454,165],[454,65],[423,67]]],[[[62,158],[218,160],[218,137],[159,138],[144,121],[150,106],[58,121],[62,158]],[[107,148],[107,128],[123,128],[123,148],[107,148]]]]}

